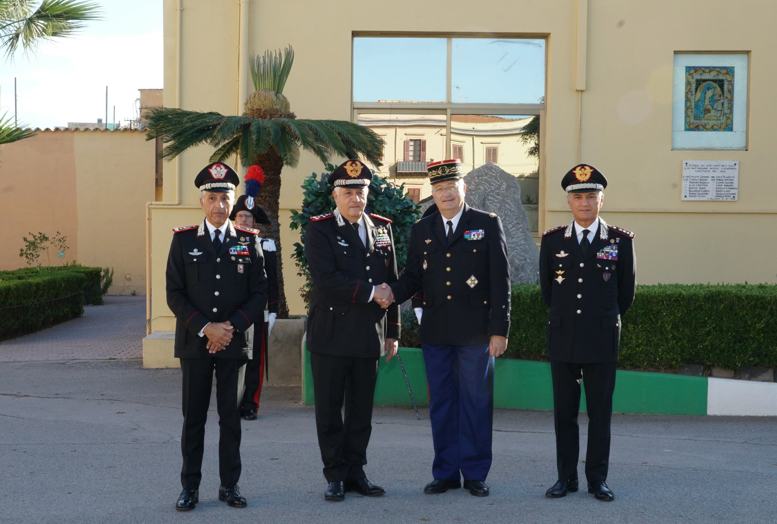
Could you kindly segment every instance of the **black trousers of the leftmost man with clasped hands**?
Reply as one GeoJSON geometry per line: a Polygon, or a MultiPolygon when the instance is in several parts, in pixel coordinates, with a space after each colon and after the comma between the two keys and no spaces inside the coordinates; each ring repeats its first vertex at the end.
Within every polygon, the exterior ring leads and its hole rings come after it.
{"type": "Polygon", "coordinates": [[[231,488],[240,478],[240,403],[243,394],[244,359],[180,359],[183,372],[183,431],[181,432],[181,484],[200,488],[205,422],[211,404],[213,372],[216,372],[218,410],[218,474],[221,485],[231,488]]]}

